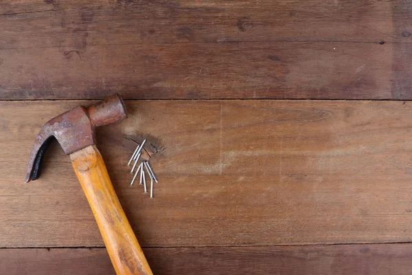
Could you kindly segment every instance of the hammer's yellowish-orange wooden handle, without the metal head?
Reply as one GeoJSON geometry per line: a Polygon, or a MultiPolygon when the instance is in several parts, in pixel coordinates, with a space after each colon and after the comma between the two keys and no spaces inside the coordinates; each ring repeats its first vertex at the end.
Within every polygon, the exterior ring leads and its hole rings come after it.
{"type": "Polygon", "coordinates": [[[94,145],[70,155],[117,274],[152,274],[94,145]]]}

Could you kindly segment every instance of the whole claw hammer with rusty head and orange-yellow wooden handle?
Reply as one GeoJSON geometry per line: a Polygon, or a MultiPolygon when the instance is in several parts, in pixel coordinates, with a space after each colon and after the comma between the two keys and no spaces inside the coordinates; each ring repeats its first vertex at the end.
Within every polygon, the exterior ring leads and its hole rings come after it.
{"type": "Polygon", "coordinates": [[[127,118],[124,102],[114,94],[86,108],[76,107],[49,120],[38,133],[25,182],[38,179],[44,153],[56,138],[70,155],[84,194],[98,223],[116,274],[152,274],[136,236],[117,199],[102,155],[95,146],[95,127],[127,118]]]}

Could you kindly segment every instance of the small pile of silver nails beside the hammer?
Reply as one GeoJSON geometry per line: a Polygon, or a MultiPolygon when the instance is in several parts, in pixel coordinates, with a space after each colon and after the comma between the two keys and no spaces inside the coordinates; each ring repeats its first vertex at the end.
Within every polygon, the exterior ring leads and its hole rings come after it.
{"type": "MultiPolygon", "coordinates": [[[[137,162],[139,162],[139,159],[141,157],[141,150],[143,149],[143,146],[144,146],[145,142],[146,142],[146,140],[141,142],[141,144],[137,144],[137,148],[136,148],[135,152],[133,153],[132,157],[130,157],[130,159],[127,163],[127,166],[130,166],[132,161],[135,161],[135,164],[133,164],[133,168],[130,171],[130,173],[133,173],[133,171],[136,168],[137,162]]],[[[147,160],[144,160],[144,159],[141,160],[139,166],[137,166],[135,176],[133,177],[132,181],[130,182],[130,185],[133,185],[137,175],[140,175],[139,184],[143,184],[145,193],[148,192],[147,187],[146,187],[146,175],[145,175],[146,173],[144,172],[145,169],[146,169],[146,171],[147,171],[147,173],[150,177],[150,199],[152,199],[153,198],[153,182],[155,181],[156,183],[159,183],[159,181],[157,181],[155,173],[153,173],[152,167],[150,167],[150,164],[147,160]]]]}

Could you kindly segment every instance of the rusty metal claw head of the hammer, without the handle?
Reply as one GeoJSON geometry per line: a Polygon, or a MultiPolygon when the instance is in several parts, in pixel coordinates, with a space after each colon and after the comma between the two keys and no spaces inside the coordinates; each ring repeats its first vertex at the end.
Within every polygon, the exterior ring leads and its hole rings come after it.
{"type": "Polygon", "coordinates": [[[124,102],[118,94],[113,94],[89,108],[79,106],[49,120],[34,141],[25,182],[40,176],[41,162],[52,137],[56,137],[68,155],[95,144],[95,126],[125,118],[127,114],[124,102]]]}

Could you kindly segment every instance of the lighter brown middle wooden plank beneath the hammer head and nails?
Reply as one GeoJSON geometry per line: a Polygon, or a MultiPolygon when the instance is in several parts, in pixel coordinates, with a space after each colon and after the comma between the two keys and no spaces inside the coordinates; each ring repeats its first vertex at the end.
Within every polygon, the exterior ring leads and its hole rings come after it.
{"type": "MultiPolygon", "coordinates": [[[[103,245],[57,144],[23,184],[38,129],[87,102],[0,102],[0,247],[103,245]]],[[[412,105],[396,101],[145,100],[98,129],[98,148],[142,246],[412,240],[412,105]],[[148,138],[155,199],[125,165],[148,138]]]]}

